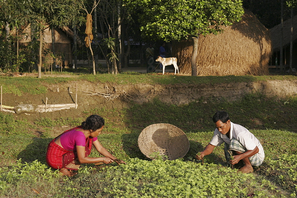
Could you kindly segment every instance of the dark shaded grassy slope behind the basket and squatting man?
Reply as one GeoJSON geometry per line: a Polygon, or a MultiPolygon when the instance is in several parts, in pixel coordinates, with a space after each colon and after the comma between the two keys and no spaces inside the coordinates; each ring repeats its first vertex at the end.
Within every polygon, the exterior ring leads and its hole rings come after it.
{"type": "Polygon", "coordinates": [[[197,101],[185,105],[167,104],[155,98],[151,102],[134,104],[128,110],[128,124],[143,129],[154,123],[168,123],[180,127],[185,132],[210,130],[214,128],[211,120],[216,111],[229,112],[231,121],[249,129],[283,129],[296,131],[296,98],[283,100],[267,98],[261,94],[247,94],[242,99],[228,101],[216,98],[197,98],[197,101]],[[207,103],[204,103],[207,101],[207,103]],[[160,113],[162,112],[162,113],[160,113]],[[286,116],[290,114],[290,116],[286,116]],[[286,119],[282,119],[286,117],[286,119]]]}

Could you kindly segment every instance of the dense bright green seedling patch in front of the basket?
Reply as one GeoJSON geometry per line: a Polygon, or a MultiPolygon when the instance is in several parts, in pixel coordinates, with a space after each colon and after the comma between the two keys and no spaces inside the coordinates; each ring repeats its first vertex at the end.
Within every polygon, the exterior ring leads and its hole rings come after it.
{"type": "Polygon", "coordinates": [[[104,192],[113,197],[245,197],[250,192],[261,197],[273,186],[264,180],[265,187],[260,189],[252,174],[182,160],[136,158],[106,171],[112,179],[104,192]]]}

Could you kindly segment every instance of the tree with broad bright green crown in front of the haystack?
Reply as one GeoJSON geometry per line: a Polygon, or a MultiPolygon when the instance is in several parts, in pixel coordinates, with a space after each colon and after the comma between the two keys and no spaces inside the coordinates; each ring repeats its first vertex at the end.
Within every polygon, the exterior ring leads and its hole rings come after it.
{"type": "Polygon", "coordinates": [[[142,35],[164,41],[193,39],[192,76],[197,76],[200,35],[218,34],[222,25],[238,22],[244,14],[241,0],[125,0],[138,12],[142,35]],[[140,12],[141,11],[141,12],[140,12]]]}

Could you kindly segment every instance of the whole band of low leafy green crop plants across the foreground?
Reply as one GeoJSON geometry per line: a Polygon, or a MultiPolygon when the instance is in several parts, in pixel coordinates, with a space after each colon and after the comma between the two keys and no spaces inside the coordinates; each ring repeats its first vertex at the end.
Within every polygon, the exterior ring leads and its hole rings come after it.
{"type": "Polygon", "coordinates": [[[268,180],[215,164],[132,158],[127,165],[82,167],[73,178],[35,160],[0,168],[0,195],[19,197],[284,197],[268,180]],[[26,188],[19,188],[24,186],[26,188]]]}

